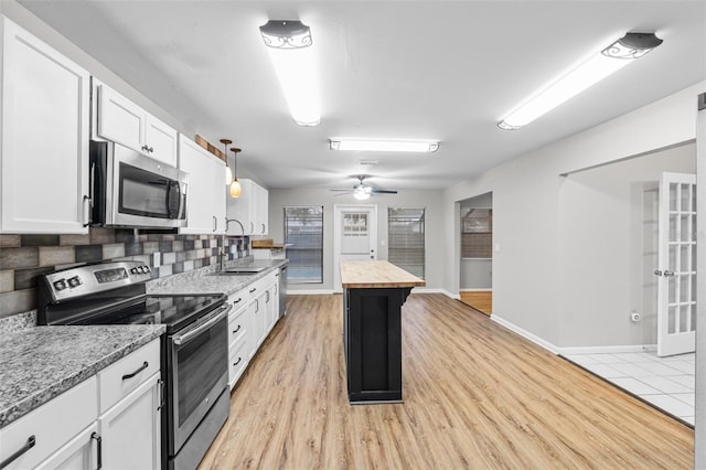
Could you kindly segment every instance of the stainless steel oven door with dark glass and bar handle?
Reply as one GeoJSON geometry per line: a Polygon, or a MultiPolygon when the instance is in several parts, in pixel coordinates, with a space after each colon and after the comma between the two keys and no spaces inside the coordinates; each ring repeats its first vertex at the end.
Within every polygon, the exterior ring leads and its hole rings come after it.
{"type": "Polygon", "coordinates": [[[220,308],[204,321],[169,337],[172,372],[169,383],[169,451],[174,456],[227,388],[227,311],[220,308]]]}

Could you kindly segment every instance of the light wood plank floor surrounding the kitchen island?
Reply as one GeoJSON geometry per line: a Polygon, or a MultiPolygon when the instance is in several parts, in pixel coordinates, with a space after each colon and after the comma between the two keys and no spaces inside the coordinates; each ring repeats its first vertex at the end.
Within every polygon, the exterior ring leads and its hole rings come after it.
{"type": "Polygon", "coordinates": [[[443,295],[403,307],[400,405],[350,406],[341,296],[290,296],[202,469],[691,469],[694,431],[443,295]]]}

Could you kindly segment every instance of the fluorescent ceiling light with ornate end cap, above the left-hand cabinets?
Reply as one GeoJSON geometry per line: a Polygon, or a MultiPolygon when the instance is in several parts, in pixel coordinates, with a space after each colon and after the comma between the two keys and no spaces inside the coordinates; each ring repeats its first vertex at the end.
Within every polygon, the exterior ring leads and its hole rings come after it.
{"type": "Polygon", "coordinates": [[[321,113],[311,30],[298,20],[270,20],[260,33],[295,122],[318,125],[321,113]]]}

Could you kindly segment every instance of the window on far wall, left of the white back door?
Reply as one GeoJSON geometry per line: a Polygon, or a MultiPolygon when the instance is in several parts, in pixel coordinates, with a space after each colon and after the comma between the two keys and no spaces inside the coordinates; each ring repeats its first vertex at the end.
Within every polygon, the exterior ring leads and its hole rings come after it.
{"type": "Polygon", "coordinates": [[[323,282],[323,207],[285,207],[287,284],[323,282]]]}

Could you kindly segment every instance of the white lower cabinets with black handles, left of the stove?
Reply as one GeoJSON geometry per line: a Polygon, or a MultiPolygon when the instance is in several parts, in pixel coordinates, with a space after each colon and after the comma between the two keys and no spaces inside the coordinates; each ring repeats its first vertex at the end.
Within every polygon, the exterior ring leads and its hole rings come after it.
{"type": "Polygon", "coordinates": [[[157,339],[0,429],[0,461],[26,448],[3,469],[159,469],[159,359],[157,339]]]}

